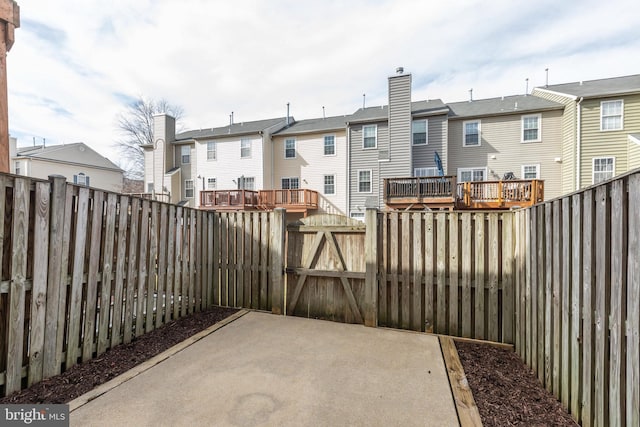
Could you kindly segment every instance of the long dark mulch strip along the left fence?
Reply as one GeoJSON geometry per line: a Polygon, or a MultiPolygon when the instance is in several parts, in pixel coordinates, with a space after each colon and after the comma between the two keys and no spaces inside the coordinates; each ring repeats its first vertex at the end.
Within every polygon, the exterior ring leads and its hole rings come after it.
{"type": "Polygon", "coordinates": [[[0,398],[0,404],[70,402],[237,311],[231,308],[213,307],[207,311],[174,320],[135,338],[129,344],[121,344],[93,360],[76,365],[61,375],[0,398]]]}

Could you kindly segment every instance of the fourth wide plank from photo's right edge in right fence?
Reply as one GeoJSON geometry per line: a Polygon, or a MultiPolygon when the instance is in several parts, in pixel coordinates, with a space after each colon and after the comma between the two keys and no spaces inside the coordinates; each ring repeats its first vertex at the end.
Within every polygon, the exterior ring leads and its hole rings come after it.
{"type": "MultiPolygon", "coordinates": [[[[586,190],[583,198],[582,217],[582,264],[584,273],[582,278],[582,425],[594,426],[594,388],[593,375],[595,372],[595,194],[586,190]]],[[[636,362],[634,362],[636,363],[636,362]]]]}

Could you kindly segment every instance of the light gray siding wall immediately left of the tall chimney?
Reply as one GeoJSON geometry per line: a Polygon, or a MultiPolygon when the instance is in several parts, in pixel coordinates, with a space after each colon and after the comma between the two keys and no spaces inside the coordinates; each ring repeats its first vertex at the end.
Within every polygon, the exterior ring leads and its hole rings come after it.
{"type": "MultiPolygon", "coordinates": [[[[370,124],[370,123],[367,123],[370,124]]],[[[362,126],[353,124],[349,127],[349,212],[357,211],[360,207],[364,212],[367,198],[378,198],[380,206],[380,191],[382,189],[378,152],[389,149],[389,127],[385,122],[371,123],[378,126],[378,146],[376,149],[362,148],[362,126]],[[371,170],[371,193],[358,192],[358,171],[371,170]]]]}

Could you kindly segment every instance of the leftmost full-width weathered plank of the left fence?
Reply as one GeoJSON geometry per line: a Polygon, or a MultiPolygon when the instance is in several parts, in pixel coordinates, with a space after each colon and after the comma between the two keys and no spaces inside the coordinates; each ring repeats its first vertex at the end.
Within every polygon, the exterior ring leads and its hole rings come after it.
{"type": "MultiPolygon", "coordinates": [[[[11,227],[11,288],[7,336],[5,395],[20,390],[25,326],[25,278],[29,249],[29,184],[15,178],[13,184],[13,224],[11,227]]],[[[4,350],[4,349],[3,349],[4,350]]]]}

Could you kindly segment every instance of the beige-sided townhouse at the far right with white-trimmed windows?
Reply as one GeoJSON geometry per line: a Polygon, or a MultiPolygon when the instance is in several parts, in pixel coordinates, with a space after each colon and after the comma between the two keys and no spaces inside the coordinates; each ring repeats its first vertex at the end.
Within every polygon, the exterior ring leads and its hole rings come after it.
{"type": "Polygon", "coordinates": [[[562,192],[640,167],[640,74],[534,88],[565,105],[562,192]]]}

